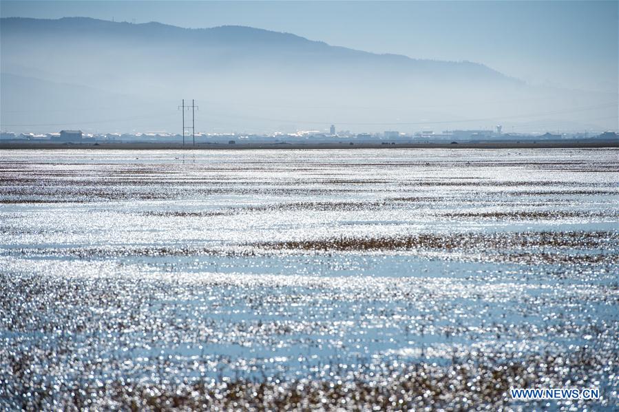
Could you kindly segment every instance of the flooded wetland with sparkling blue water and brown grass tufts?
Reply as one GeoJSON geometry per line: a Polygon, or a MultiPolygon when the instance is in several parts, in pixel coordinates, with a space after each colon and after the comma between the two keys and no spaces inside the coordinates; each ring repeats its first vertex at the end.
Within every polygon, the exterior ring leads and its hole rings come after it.
{"type": "Polygon", "coordinates": [[[3,151],[0,409],[615,409],[618,154],[3,151]]]}

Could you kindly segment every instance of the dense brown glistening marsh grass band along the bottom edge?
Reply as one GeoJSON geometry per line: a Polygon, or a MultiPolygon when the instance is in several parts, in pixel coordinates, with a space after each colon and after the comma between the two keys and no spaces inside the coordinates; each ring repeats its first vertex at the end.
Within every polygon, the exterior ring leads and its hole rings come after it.
{"type": "MultiPolygon", "coordinates": [[[[619,358],[615,356],[614,364],[619,358]]],[[[430,362],[359,365],[344,371],[331,365],[332,380],[317,376],[288,379],[278,376],[253,380],[194,379],[189,382],[149,383],[134,380],[102,382],[80,376],[57,387],[33,382],[27,355],[6,365],[13,380],[5,393],[17,395],[19,409],[39,411],[120,409],[127,411],[189,410],[410,410],[503,409],[514,406],[510,388],[561,387],[574,382],[592,387],[582,376],[600,372],[607,365],[591,350],[569,356],[551,353],[518,358],[510,354],[472,354],[452,358],[448,364],[430,362]],[[53,406],[53,407],[52,407],[53,406]]],[[[165,365],[164,365],[165,366],[165,365]]],[[[611,368],[616,369],[616,367],[611,368]]],[[[610,370],[609,370],[610,371],[610,370]]],[[[536,402],[522,402],[534,406],[536,402]]],[[[616,398],[602,393],[602,400],[574,402],[580,407],[611,407],[616,398]]]]}

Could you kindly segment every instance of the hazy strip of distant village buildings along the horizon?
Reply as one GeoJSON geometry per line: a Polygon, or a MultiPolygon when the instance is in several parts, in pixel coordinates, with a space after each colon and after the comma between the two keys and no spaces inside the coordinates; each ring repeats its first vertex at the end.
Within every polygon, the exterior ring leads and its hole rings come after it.
{"type": "Polygon", "coordinates": [[[348,130],[337,131],[331,125],[328,131],[299,130],[295,133],[273,134],[242,134],[242,133],[186,133],[171,134],[165,132],[146,133],[105,133],[90,134],[81,130],[61,130],[54,133],[13,133],[0,132],[2,143],[57,143],[59,145],[101,145],[105,143],[176,143],[186,145],[213,144],[213,145],[242,145],[247,143],[258,144],[381,144],[397,145],[410,143],[490,143],[490,142],[523,142],[536,141],[565,141],[565,140],[598,140],[612,141],[618,138],[616,132],[582,132],[582,133],[504,133],[501,125],[494,130],[445,130],[434,132],[423,130],[411,134],[397,130],[387,130],[381,133],[351,133],[348,130]]]}

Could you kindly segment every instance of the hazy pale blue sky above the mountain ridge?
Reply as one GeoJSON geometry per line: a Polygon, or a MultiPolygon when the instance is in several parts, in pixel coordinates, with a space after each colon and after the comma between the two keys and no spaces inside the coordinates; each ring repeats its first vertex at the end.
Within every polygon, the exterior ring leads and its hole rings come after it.
{"type": "Polygon", "coordinates": [[[2,17],[250,25],[358,50],[470,60],[534,84],[617,91],[618,1],[0,1],[2,17]]]}

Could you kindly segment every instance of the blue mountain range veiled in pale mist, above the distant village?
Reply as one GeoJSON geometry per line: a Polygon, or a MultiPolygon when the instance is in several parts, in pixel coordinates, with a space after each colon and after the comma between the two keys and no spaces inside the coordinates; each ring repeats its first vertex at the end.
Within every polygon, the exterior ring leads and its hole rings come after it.
{"type": "Polygon", "coordinates": [[[180,132],[181,99],[196,100],[204,132],[617,127],[616,94],[533,87],[479,63],[249,27],[8,18],[0,46],[7,130],[180,132]]]}

